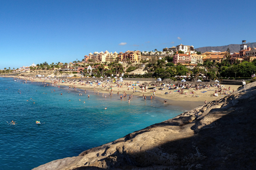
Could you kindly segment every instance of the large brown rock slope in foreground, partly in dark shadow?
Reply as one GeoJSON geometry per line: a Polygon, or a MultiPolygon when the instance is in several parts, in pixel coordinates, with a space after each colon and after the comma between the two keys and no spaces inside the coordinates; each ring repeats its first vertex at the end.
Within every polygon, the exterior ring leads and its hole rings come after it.
{"type": "Polygon", "coordinates": [[[254,169],[255,86],[34,169],[254,169]]]}

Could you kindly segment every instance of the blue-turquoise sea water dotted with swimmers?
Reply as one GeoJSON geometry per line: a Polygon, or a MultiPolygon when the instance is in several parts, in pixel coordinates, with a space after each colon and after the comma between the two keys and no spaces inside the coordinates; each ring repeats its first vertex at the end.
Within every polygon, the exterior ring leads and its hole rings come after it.
{"type": "Polygon", "coordinates": [[[84,90],[16,80],[0,77],[0,169],[3,170],[27,170],[55,159],[77,156],[183,112],[156,98],[144,101],[133,96],[128,104],[128,100],[121,101],[117,94],[102,96],[89,91],[88,86],[85,94],[84,90]],[[12,120],[18,124],[7,123],[12,120]],[[45,124],[37,125],[36,121],[45,124]]]}

